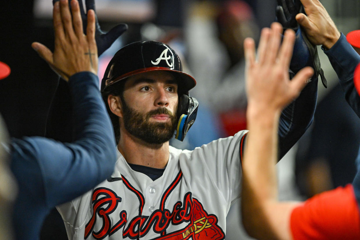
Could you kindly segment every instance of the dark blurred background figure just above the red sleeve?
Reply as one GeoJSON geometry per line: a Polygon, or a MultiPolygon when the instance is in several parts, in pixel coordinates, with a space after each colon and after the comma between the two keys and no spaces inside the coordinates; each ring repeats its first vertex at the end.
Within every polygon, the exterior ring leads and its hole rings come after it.
{"type": "Polygon", "coordinates": [[[351,183],[359,144],[359,117],[336,85],[319,101],[312,126],[298,142],[295,173],[301,194],[310,198],[351,183]]]}

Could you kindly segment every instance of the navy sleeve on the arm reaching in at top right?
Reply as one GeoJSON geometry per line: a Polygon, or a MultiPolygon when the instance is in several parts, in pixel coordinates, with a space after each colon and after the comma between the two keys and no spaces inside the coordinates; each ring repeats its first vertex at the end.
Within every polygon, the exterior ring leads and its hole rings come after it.
{"type": "Polygon", "coordinates": [[[334,46],[329,50],[324,48],[323,50],[339,78],[347,103],[360,117],[360,98],[354,87],[354,71],[360,62],[359,54],[347,42],[345,35],[342,33],[334,46]]]}

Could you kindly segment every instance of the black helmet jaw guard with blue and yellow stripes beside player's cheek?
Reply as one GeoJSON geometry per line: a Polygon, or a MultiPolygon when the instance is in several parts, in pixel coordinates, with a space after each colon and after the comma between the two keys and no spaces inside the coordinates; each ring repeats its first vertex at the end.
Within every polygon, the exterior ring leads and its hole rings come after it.
{"type": "Polygon", "coordinates": [[[186,133],[194,124],[198,112],[198,100],[190,98],[188,94],[183,94],[179,97],[179,104],[177,106],[177,127],[175,138],[183,141],[186,133]]]}

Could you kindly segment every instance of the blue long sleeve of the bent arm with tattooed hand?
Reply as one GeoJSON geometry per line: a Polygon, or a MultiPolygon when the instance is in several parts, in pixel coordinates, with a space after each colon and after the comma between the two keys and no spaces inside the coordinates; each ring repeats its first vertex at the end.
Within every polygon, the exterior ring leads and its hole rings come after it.
{"type": "Polygon", "coordinates": [[[111,121],[90,72],[69,79],[75,141],[44,137],[13,139],[12,170],[19,193],[48,207],[69,201],[96,186],[113,172],[116,144],[111,121]]]}

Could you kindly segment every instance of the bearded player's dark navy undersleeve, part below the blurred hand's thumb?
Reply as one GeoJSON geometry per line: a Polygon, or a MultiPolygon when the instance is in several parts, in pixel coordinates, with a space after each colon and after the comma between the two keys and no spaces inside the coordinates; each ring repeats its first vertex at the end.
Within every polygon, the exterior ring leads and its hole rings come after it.
{"type": "Polygon", "coordinates": [[[314,119],[317,99],[318,77],[312,77],[300,96],[281,113],[278,130],[279,159],[284,157],[310,127],[314,119]]]}

